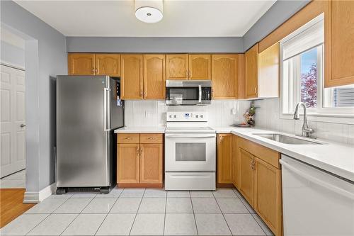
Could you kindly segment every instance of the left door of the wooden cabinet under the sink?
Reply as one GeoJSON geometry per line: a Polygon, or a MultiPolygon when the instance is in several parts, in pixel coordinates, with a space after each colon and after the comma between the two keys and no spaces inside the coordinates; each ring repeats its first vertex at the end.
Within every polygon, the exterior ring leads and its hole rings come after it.
{"type": "Polygon", "coordinates": [[[254,172],[252,169],[253,155],[239,148],[240,153],[240,184],[239,190],[253,206],[254,172]]]}

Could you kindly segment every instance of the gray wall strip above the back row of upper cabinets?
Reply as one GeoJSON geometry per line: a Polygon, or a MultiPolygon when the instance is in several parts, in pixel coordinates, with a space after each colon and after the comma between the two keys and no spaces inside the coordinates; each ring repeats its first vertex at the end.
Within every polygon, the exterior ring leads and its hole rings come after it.
{"type": "Polygon", "coordinates": [[[67,37],[68,52],[243,52],[241,37],[67,37]]]}

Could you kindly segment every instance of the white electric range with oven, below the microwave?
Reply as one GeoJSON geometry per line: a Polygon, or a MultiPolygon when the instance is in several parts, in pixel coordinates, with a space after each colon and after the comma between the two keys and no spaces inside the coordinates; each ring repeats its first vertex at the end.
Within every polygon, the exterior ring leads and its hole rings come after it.
{"type": "Polygon", "coordinates": [[[167,112],[165,189],[215,190],[216,133],[206,112],[167,112]]]}

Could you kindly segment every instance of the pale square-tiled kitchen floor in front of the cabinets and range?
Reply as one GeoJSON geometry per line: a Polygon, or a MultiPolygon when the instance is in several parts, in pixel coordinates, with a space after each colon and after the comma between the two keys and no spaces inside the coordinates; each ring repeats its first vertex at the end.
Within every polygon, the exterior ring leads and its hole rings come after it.
{"type": "Polygon", "coordinates": [[[236,189],[50,196],[0,235],[272,235],[236,189]]]}

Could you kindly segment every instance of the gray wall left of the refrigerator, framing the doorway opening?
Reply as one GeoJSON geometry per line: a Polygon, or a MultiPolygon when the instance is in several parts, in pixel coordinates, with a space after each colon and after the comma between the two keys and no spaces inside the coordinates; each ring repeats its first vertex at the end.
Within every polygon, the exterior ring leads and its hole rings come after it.
{"type": "MultiPolygon", "coordinates": [[[[1,1],[1,27],[25,38],[27,176],[26,191],[55,181],[55,111],[52,77],[67,74],[64,35],[13,1],[1,1]]],[[[55,100],[55,99],[54,99],[55,100]]]]}

